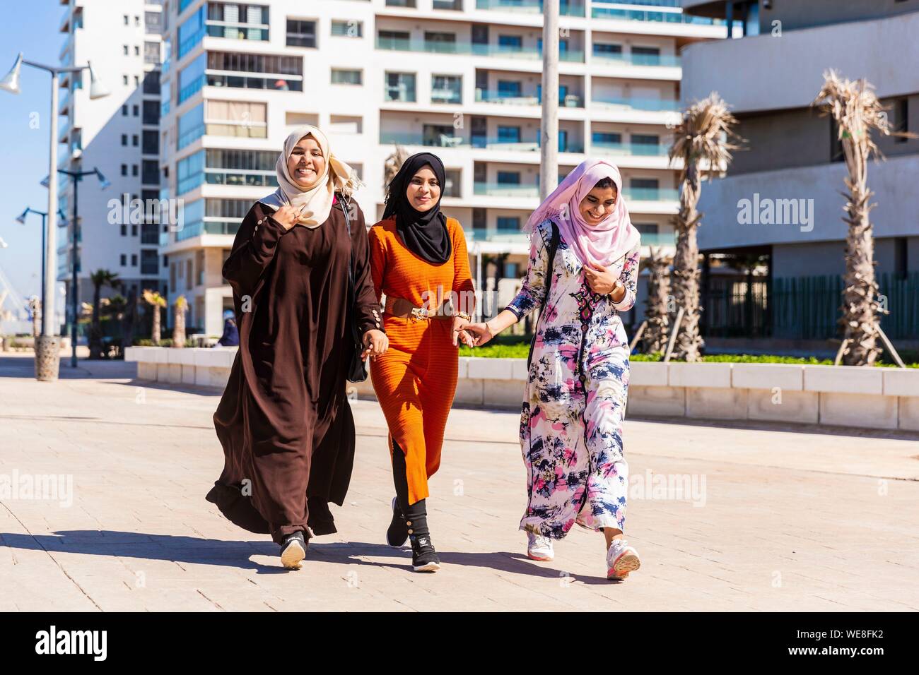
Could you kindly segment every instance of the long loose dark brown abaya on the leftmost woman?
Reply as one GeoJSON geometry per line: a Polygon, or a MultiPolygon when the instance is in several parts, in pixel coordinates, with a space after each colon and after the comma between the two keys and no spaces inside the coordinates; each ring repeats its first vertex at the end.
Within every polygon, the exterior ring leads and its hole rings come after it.
{"type": "Polygon", "coordinates": [[[349,321],[361,335],[380,328],[364,215],[352,205],[349,242],[340,201],[319,227],[289,231],[256,202],[223,265],[240,346],[214,413],[225,465],[207,499],[233,523],[270,533],[278,544],[297,531],[308,537],[308,524],[315,534],[335,532],[328,502],[343,503],[351,478],[349,321]]]}

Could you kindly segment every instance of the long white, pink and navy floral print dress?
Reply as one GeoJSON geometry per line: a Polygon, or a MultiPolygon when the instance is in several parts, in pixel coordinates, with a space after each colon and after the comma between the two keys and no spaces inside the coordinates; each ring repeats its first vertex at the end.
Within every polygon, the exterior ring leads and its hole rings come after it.
{"type": "Polygon", "coordinates": [[[506,308],[517,320],[543,308],[520,415],[528,478],[520,529],[553,539],[574,523],[624,532],[629,465],[622,420],[630,350],[619,312],[635,304],[641,243],[610,267],[626,287],[614,303],[590,289],[583,264],[560,238],[545,298],[551,235],[548,219],[533,232],[527,276],[506,308]]]}

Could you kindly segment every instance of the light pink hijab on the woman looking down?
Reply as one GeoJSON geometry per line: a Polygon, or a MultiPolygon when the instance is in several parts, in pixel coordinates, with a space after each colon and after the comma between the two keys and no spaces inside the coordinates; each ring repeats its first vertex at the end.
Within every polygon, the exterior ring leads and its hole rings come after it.
{"type": "Polygon", "coordinates": [[[629,253],[641,240],[639,231],[631,224],[629,209],[622,196],[622,176],[616,166],[606,160],[589,159],[578,164],[539,208],[533,211],[524,231],[534,231],[545,219],[555,221],[562,239],[571,246],[582,264],[607,267],[629,253]],[[611,178],[616,184],[616,204],[606,219],[597,225],[588,225],[578,207],[587,193],[603,178],[611,178]]]}

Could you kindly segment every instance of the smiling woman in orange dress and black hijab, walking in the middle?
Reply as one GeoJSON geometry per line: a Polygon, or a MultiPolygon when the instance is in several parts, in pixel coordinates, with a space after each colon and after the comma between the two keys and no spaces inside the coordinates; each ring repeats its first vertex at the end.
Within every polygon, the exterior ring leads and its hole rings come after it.
{"type": "Polygon", "coordinates": [[[412,544],[415,571],[440,560],[427,525],[427,479],[440,466],[447,416],[457,388],[459,340],[475,306],[466,239],[440,211],[446,182],[437,155],[409,157],[389,185],[383,219],[370,228],[370,272],[385,296],[389,350],[370,377],[389,427],[396,497],[386,533],[391,546],[412,544]]]}

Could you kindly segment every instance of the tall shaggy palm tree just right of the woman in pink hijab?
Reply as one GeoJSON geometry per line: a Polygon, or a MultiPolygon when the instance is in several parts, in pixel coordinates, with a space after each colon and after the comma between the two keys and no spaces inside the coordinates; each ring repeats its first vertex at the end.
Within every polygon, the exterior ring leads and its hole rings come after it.
{"type": "Polygon", "coordinates": [[[674,129],[674,144],[668,156],[670,163],[682,160],[680,169],[680,210],[674,219],[677,232],[674,256],[674,298],[682,307],[684,316],[679,327],[675,356],[686,361],[698,361],[699,350],[704,345],[698,331],[698,242],[696,231],[702,214],[698,212],[698,198],[702,177],[709,179],[720,174],[731,163],[732,150],[740,146],[732,127],[737,119],[729,112],[727,104],[717,93],[697,101],[686,109],[683,119],[674,129]]]}

